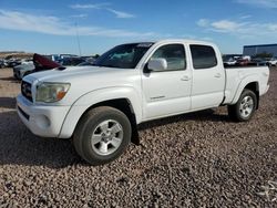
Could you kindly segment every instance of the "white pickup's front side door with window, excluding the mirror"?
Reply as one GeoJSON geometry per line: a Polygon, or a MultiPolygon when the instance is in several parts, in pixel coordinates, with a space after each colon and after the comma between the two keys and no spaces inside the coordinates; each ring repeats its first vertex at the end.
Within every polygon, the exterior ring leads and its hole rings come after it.
{"type": "Polygon", "coordinates": [[[187,112],[191,108],[192,71],[184,44],[165,44],[151,59],[165,59],[165,71],[143,73],[144,119],[187,112]]]}

